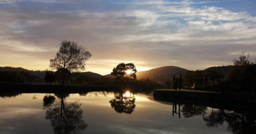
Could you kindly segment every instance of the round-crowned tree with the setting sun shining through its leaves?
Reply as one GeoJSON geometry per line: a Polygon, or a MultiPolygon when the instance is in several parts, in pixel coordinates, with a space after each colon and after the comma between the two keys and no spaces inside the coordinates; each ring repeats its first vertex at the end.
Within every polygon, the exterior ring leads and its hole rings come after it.
{"type": "Polygon", "coordinates": [[[120,63],[117,67],[114,67],[111,74],[121,82],[131,82],[136,80],[136,67],[133,63],[120,63]],[[127,70],[130,70],[131,73],[127,74],[127,70]]]}

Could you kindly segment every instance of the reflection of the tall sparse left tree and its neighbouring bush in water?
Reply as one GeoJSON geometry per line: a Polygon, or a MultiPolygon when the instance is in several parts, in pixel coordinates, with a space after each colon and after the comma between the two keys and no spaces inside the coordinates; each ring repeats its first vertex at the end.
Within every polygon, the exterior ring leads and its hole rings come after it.
{"type": "Polygon", "coordinates": [[[46,119],[50,119],[55,134],[71,134],[84,130],[87,124],[83,120],[83,110],[78,101],[66,103],[68,94],[44,96],[43,106],[46,108],[46,119]],[[57,99],[55,99],[55,96],[57,99]]]}

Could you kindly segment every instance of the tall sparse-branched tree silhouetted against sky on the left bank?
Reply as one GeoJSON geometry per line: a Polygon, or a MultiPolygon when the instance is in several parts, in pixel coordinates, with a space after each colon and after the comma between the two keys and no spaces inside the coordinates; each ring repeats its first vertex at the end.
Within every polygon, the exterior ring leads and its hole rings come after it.
{"type": "Polygon", "coordinates": [[[66,72],[85,70],[85,62],[90,59],[92,54],[82,46],[78,46],[76,42],[64,40],[61,42],[61,47],[56,53],[54,59],[50,59],[50,67],[52,69],[62,69],[63,78],[62,84],[64,84],[66,72]]]}

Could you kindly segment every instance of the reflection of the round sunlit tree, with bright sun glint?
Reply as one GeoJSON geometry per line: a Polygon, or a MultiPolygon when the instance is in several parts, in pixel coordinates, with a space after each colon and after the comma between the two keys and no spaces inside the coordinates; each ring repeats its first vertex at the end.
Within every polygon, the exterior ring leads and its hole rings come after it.
{"type": "Polygon", "coordinates": [[[117,113],[126,113],[131,114],[135,108],[135,97],[130,94],[130,92],[126,93],[115,93],[115,98],[109,101],[111,103],[111,107],[115,109],[117,113]]]}

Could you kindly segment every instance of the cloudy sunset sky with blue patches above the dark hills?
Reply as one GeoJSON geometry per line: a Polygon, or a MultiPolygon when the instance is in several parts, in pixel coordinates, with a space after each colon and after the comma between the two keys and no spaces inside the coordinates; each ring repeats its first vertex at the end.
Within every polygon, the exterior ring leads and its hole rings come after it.
{"type": "Polygon", "coordinates": [[[0,66],[49,69],[62,40],[86,47],[85,71],[138,71],[256,60],[256,0],[0,0],[0,66]]]}

